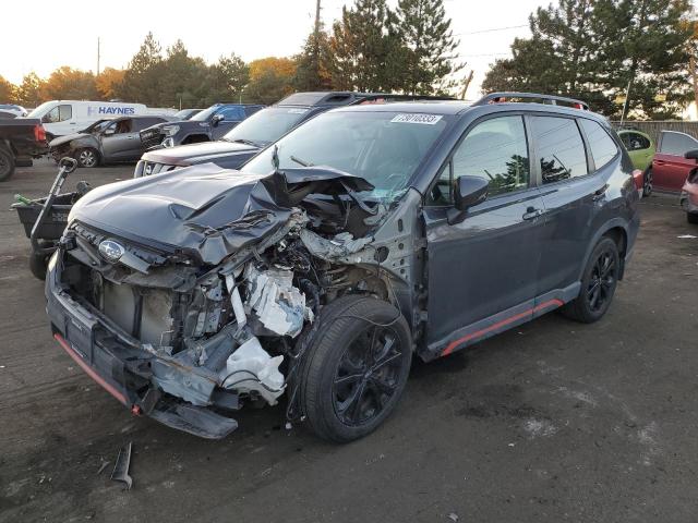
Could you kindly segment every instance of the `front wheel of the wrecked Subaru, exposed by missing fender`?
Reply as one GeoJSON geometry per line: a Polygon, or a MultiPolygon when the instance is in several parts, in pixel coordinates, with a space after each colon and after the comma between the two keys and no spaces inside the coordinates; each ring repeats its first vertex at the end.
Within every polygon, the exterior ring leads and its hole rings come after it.
{"type": "Polygon", "coordinates": [[[395,410],[412,358],[409,326],[387,302],[347,296],[324,307],[301,343],[300,406],[317,436],[348,442],[395,410]]]}

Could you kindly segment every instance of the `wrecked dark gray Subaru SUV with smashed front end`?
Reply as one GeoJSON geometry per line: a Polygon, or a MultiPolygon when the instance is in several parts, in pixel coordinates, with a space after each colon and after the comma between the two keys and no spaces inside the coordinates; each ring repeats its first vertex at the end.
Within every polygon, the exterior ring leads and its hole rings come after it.
{"type": "Polygon", "coordinates": [[[413,354],[558,307],[601,318],[638,230],[631,165],[601,117],[535,96],[336,109],[239,171],[93,190],[49,263],[56,340],[171,427],[220,438],[284,397],[349,441],[395,409],[413,354]]]}

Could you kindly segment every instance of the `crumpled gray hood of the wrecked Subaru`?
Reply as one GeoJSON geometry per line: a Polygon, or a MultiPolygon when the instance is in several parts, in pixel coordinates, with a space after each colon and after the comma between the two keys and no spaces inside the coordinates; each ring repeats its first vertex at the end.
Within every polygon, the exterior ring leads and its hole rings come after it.
{"type": "Polygon", "coordinates": [[[117,238],[217,265],[276,231],[309,194],[347,188],[373,186],[330,168],[258,175],[205,163],[94,188],[73,206],[69,223],[77,220],[117,238]]]}

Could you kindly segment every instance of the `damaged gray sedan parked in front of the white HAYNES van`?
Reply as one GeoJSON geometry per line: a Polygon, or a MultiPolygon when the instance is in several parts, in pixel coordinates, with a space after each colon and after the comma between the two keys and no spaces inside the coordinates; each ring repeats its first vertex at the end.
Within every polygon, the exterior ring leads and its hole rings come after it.
{"type": "Polygon", "coordinates": [[[53,138],[51,156],[58,161],[69,156],[80,167],[135,161],[145,151],[141,131],[167,122],[167,117],[137,115],[98,120],[80,133],[53,138]]]}

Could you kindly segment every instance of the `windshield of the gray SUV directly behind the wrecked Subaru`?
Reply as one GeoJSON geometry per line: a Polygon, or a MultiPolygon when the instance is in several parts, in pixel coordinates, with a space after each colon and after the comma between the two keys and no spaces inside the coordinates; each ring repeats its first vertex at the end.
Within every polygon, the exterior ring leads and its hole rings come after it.
{"type": "Polygon", "coordinates": [[[308,111],[309,109],[288,107],[262,109],[233,127],[224,136],[224,139],[252,142],[258,145],[270,144],[284,136],[308,111]]]}

